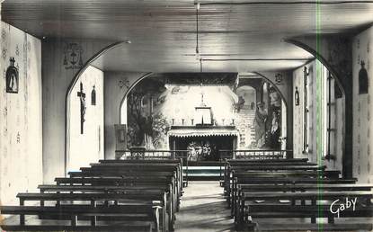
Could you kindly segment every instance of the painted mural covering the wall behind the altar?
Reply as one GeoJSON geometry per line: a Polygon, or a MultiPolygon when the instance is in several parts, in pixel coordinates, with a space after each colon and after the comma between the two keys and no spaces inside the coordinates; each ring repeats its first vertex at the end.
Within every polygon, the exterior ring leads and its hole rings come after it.
{"type": "MultiPolygon", "coordinates": [[[[262,83],[262,79],[257,80],[262,83]]],[[[274,86],[267,84],[266,93],[256,93],[253,87],[237,90],[210,82],[214,84],[185,85],[189,81],[180,84],[177,78],[156,76],[138,83],[127,96],[128,148],[169,149],[167,132],[172,126],[196,126],[195,108],[203,95],[203,103],[211,107],[212,125],[235,126],[238,130],[237,148],[280,149],[282,100],[274,86]]],[[[184,139],[182,147],[193,150],[196,159],[209,160],[216,156],[214,149],[220,143],[214,139],[184,139]]]]}

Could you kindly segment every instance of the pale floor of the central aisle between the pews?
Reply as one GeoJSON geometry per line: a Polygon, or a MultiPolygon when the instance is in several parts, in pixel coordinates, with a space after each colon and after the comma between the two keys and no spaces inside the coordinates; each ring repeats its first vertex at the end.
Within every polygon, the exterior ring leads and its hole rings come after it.
{"type": "Polygon", "coordinates": [[[189,182],[184,188],[175,232],[235,231],[230,210],[218,182],[189,182]]]}

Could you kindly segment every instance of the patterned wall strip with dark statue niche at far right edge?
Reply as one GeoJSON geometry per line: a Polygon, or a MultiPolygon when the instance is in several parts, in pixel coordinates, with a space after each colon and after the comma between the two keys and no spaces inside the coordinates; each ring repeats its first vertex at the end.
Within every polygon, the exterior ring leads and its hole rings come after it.
{"type": "Polygon", "coordinates": [[[353,76],[353,175],[360,183],[373,183],[373,28],[357,35],[352,43],[353,76]],[[366,78],[368,77],[368,78],[366,78]],[[367,84],[368,81],[368,85],[367,84]],[[364,82],[364,83],[361,83],[364,82]],[[365,86],[364,86],[365,85],[365,86]],[[361,91],[363,90],[363,91],[361,91]]]}

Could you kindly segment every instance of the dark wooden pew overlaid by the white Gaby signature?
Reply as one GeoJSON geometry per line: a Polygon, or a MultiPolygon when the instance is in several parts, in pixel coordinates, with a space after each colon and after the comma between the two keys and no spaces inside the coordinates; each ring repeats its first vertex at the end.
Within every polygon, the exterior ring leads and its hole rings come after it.
{"type": "Polygon", "coordinates": [[[335,201],[338,199],[360,199],[363,202],[355,210],[344,210],[340,213],[341,218],[372,217],[373,208],[371,199],[373,192],[348,191],[348,192],[242,192],[239,196],[239,210],[237,211],[237,225],[244,222],[251,223],[252,219],[259,218],[310,218],[315,223],[316,218],[327,218],[329,223],[334,222],[337,216],[330,211],[329,205],[323,205],[324,201],[335,201]],[[311,201],[311,205],[288,205],[276,207],[273,205],[259,206],[249,204],[247,201],[311,201]],[[245,210],[248,209],[248,210],[245,210]]]}

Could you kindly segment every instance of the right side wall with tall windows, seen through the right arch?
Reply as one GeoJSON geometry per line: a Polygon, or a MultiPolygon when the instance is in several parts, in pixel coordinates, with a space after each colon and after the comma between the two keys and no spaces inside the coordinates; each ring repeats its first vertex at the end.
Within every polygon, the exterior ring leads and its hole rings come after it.
{"type": "MultiPolygon", "coordinates": [[[[293,101],[293,120],[294,120],[294,157],[307,157],[311,162],[319,162],[320,164],[327,165],[329,168],[342,170],[342,133],[343,133],[343,108],[344,98],[335,98],[334,88],[331,92],[331,155],[335,156],[335,159],[317,160],[316,155],[316,95],[320,94],[316,91],[316,65],[323,67],[321,63],[316,64],[318,61],[313,61],[306,65],[308,75],[308,150],[304,153],[304,111],[305,111],[305,77],[304,67],[299,67],[293,73],[293,96],[298,90],[299,104],[296,105],[296,101],[293,101]],[[317,94],[316,94],[317,93],[317,94]]],[[[324,67],[323,67],[324,68],[324,67]]],[[[326,76],[324,77],[324,84],[326,85],[326,76]]],[[[331,83],[334,86],[334,81],[331,83]]],[[[325,86],[326,87],[326,86],[325,86]]],[[[326,109],[327,96],[323,94],[324,111],[326,109]]],[[[326,115],[326,114],[324,114],[326,115]]],[[[327,125],[327,120],[323,121],[324,127],[327,125]]],[[[323,134],[323,141],[327,138],[323,134]]],[[[326,155],[326,149],[324,146],[324,156],[326,155]]]]}

